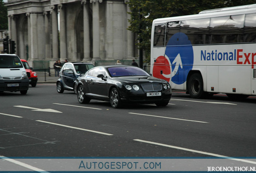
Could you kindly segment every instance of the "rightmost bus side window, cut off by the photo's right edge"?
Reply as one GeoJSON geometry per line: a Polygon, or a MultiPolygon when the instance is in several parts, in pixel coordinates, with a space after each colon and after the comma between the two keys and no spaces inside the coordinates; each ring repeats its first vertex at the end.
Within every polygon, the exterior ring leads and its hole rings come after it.
{"type": "Polygon", "coordinates": [[[246,14],[244,42],[256,42],[256,13],[246,14]]]}

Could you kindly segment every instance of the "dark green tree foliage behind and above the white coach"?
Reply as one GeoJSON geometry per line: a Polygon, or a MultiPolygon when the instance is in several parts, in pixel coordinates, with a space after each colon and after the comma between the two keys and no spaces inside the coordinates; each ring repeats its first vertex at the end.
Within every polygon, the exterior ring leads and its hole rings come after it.
{"type": "Polygon", "coordinates": [[[128,30],[138,34],[137,40],[142,39],[137,46],[145,51],[144,61],[150,63],[151,27],[154,19],[198,14],[202,10],[255,3],[256,0],[129,0],[128,13],[131,19],[128,30]]]}

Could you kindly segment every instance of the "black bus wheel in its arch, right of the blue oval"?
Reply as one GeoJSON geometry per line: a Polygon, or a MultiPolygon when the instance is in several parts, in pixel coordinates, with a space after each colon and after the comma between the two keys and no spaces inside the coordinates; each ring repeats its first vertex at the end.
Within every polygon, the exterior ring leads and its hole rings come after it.
{"type": "Polygon", "coordinates": [[[194,73],[188,80],[188,92],[193,99],[199,99],[204,93],[204,84],[202,76],[199,73],[194,73]]]}

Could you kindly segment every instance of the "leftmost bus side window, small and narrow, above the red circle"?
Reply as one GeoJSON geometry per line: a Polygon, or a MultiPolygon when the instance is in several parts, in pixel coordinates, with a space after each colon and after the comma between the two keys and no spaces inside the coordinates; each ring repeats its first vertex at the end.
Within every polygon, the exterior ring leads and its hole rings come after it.
{"type": "Polygon", "coordinates": [[[155,24],[153,46],[165,46],[165,26],[165,23],[155,24]]]}

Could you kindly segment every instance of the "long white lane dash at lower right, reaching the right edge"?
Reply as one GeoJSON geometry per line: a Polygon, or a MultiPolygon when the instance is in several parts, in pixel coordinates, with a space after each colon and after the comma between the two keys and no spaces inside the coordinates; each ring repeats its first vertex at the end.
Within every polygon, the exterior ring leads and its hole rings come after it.
{"type": "Polygon", "coordinates": [[[173,149],[180,149],[180,150],[184,150],[184,151],[190,151],[193,153],[200,153],[200,154],[204,154],[204,155],[210,155],[210,156],[214,156],[214,157],[221,157],[224,159],[231,159],[231,160],[235,160],[235,161],[242,161],[242,162],[246,162],[246,163],[252,163],[252,164],[256,164],[255,161],[249,161],[249,160],[245,160],[245,159],[237,159],[234,157],[228,157],[228,156],[224,156],[224,155],[218,155],[218,154],[214,154],[214,153],[208,153],[208,152],[204,152],[204,151],[197,151],[197,150],[193,150],[193,149],[187,149],[187,148],[183,148],[183,147],[176,147],[173,145],[166,145],[166,144],[162,144],[162,143],[156,143],[156,142],[151,142],[151,141],[144,141],[141,139],[133,139],[134,141],[138,141],[138,142],[142,142],[142,143],[149,143],[149,144],[154,144],[154,145],[160,145],[163,147],[169,147],[169,148],[173,148],[173,149]]]}

